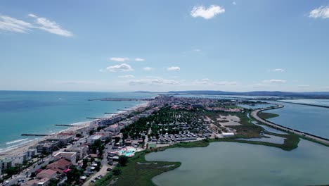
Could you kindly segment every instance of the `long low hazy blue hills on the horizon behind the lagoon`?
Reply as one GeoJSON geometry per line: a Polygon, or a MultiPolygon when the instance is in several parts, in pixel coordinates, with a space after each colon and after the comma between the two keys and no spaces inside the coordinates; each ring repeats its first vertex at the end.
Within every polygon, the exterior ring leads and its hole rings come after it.
{"type": "Polygon", "coordinates": [[[225,91],[217,91],[217,90],[187,90],[187,91],[169,91],[168,93],[329,99],[329,92],[280,92],[280,91],[225,92],[225,91]]]}

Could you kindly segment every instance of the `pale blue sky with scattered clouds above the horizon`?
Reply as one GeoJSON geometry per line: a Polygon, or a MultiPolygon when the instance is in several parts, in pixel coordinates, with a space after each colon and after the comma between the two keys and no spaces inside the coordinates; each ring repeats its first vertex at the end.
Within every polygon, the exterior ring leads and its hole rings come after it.
{"type": "Polygon", "coordinates": [[[0,89],[329,91],[329,1],[1,1],[0,89]]]}

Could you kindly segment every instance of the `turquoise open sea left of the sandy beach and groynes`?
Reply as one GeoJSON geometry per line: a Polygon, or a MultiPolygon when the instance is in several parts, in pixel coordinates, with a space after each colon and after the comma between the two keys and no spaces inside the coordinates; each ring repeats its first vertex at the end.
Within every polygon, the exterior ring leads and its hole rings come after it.
{"type": "Polygon", "coordinates": [[[51,134],[67,127],[55,124],[79,124],[86,117],[109,116],[143,101],[88,101],[98,98],[151,98],[155,94],[134,92],[26,92],[0,91],[0,152],[37,139],[21,136],[51,134]]]}

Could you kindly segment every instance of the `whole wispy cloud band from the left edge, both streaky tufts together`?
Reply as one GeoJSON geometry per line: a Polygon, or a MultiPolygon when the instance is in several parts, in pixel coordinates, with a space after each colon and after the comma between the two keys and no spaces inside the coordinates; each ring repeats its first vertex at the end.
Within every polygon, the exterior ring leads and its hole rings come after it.
{"type": "Polygon", "coordinates": [[[18,20],[9,16],[0,16],[0,30],[5,30],[8,32],[27,33],[33,29],[38,29],[64,37],[72,36],[72,33],[70,31],[64,30],[56,22],[53,22],[46,18],[39,18],[34,14],[29,14],[28,16],[34,18],[34,23],[36,24],[27,23],[24,20],[18,20]]]}

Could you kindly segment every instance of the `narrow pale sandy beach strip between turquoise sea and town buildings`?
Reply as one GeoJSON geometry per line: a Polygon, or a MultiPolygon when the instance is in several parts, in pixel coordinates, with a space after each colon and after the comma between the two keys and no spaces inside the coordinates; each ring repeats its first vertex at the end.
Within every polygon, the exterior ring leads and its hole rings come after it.
{"type": "MultiPolygon", "coordinates": [[[[110,114],[109,117],[104,117],[103,116],[102,118],[110,118],[110,117],[115,116],[115,115],[121,115],[121,114],[127,113],[129,111],[134,111],[134,110],[140,109],[142,107],[146,107],[146,106],[148,106],[148,104],[150,104],[150,101],[141,101],[141,103],[139,103],[139,104],[137,104],[135,106],[132,106],[131,108],[127,109],[127,111],[117,111],[116,113],[110,114]]],[[[26,143],[14,144],[11,147],[4,147],[3,150],[0,151],[0,157],[23,154],[23,153],[25,153],[27,151],[27,149],[29,147],[35,146],[38,142],[41,142],[43,140],[46,140],[49,137],[53,137],[53,136],[59,135],[60,133],[63,133],[63,132],[74,132],[75,130],[82,130],[83,128],[91,128],[91,124],[94,121],[96,121],[96,120],[81,121],[81,122],[70,123],[68,125],[72,125],[72,127],[68,127],[67,129],[59,130],[57,132],[52,132],[52,133],[49,134],[49,136],[45,136],[45,137],[32,137],[34,139],[27,138],[27,142],[26,143]],[[73,124],[77,124],[77,125],[73,125],[73,124]],[[15,147],[15,145],[17,145],[17,147],[15,147]]],[[[18,139],[18,140],[20,140],[20,139],[18,139]]],[[[15,140],[15,141],[18,141],[18,140],[15,140]]]]}

